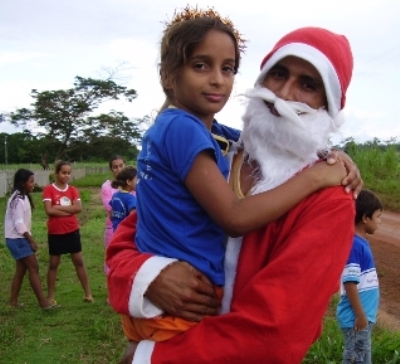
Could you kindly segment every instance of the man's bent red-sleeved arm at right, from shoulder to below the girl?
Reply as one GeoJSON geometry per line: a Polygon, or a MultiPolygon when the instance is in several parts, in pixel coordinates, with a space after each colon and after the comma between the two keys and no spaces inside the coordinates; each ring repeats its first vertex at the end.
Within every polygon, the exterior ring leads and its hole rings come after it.
{"type": "MultiPolygon", "coordinates": [[[[156,343],[152,364],[301,362],[338,289],[354,234],[354,205],[338,187],[296,209],[245,237],[231,312],[156,343]]],[[[137,354],[147,344],[141,342],[137,354]]]]}

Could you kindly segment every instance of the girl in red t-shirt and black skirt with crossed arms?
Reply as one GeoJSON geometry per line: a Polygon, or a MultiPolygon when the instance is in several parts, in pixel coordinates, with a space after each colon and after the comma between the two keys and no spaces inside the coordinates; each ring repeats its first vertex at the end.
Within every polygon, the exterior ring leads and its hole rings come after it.
{"type": "Polygon", "coordinates": [[[55,167],[56,181],[43,190],[44,210],[48,215],[49,268],[47,272],[48,299],[54,301],[57,270],[61,255],[70,254],[79,281],[85,292],[83,300],[93,302],[88,276],[83,263],[79,224],[76,214],[82,211],[78,190],[68,185],[71,175],[69,162],[59,161],[55,167]]]}

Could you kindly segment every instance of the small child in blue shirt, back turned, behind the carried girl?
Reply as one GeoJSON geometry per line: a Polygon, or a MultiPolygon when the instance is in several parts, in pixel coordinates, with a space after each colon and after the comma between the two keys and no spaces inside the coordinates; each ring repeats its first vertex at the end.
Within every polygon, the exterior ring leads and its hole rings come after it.
{"type": "Polygon", "coordinates": [[[117,229],[125,217],[136,210],[136,196],[132,195],[132,191],[136,189],[136,181],[136,168],[128,166],[123,168],[111,183],[112,188],[119,188],[109,202],[113,231],[117,229]]]}

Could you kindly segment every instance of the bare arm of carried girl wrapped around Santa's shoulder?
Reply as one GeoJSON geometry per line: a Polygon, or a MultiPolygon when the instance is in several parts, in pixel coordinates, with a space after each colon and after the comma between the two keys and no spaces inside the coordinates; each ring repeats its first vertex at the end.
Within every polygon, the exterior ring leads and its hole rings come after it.
{"type": "Polygon", "coordinates": [[[186,176],[190,192],[230,236],[240,236],[276,220],[309,194],[340,185],[343,163],[316,163],[273,190],[238,199],[208,152],[201,152],[186,176]]]}

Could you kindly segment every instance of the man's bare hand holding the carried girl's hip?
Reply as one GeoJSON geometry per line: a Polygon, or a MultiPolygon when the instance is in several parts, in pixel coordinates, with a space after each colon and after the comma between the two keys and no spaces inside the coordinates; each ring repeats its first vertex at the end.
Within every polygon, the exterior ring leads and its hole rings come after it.
{"type": "Polygon", "coordinates": [[[146,297],[164,312],[190,321],[200,321],[219,311],[212,283],[186,262],[175,262],[150,284],[146,297]]]}

